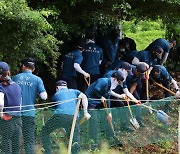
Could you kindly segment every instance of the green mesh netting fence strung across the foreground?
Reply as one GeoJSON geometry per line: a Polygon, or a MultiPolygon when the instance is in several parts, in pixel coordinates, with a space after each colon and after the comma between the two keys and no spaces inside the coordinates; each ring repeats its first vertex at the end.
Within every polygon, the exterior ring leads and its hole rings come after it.
{"type": "MultiPolygon", "coordinates": [[[[143,123],[142,127],[134,131],[130,123],[131,116],[127,106],[111,108],[114,132],[107,121],[106,109],[88,110],[91,118],[80,125],[81,149],[94,150],[104,141],[108,142],[111,146],[130,145],[132,147],[143,147],[147,144],[177,140],[179,103],[180,100],[175,97],[144,103],[148,106],[151,105],[152,108],[157,110],[165,110],[166,105],[169,104],[170,108],[167,113],[171,117],[171,124],[169,126],[165,126],[158,121],[156,112],[151,114],[147,108],[139,105],[131,105],[133,116],[143,123]]],[[[77,124],[79,124],[80,119],[84,116],[82,110],[79,111],[79,114],[80,116],[76,121],[77,124]]],[[[43,153],[42,127],[52,115],[53,109],[51,108],[37,109],[35,133],[36,153],[43,153]]],[[[66,132],[67,130],[61,127],[51,133],[53,153],[58,153],[60,147],[64,143],[68,143],[69,136],[66,135],[66,132]]],[[[21,153],[24,153],[23,139],[21,153]]]]}

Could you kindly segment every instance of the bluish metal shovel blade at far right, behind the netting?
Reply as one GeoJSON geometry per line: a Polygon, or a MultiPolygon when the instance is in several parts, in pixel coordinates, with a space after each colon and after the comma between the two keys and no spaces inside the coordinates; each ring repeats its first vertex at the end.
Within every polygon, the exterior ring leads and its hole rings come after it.
{"type": "Polygon", "coordinates": [[[157,111],[157,119],[165,126],[168,126],[171,123],[170,117],[162,110],[157,111]]]}

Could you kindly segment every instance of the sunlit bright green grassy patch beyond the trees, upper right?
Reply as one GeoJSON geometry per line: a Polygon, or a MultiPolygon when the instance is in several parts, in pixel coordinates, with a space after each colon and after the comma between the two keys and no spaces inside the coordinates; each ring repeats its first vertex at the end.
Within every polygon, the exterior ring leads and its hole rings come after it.
{"type": "Polygon", "coordinates": [[[137,50],[145,49],[152,41],[157,38],[165,37],[165,29],[162,22],[158,21],[123,21],[123,36],[130,37],[135,40],[137,50]]]}

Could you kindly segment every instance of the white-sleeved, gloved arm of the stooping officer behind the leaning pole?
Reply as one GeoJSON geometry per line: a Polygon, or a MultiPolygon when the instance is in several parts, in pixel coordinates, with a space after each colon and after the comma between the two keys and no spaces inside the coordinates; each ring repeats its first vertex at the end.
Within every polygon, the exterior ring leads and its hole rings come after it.
{"type": "Polygon", "coordinates": [[[83,110],[84,110],[84,116],[89,119],[91,117],[91,115],[88,113],[87,109],[88,109],[88,99],[86,97],[85,94],[80,93],[80,95],[78,96],[78,98],[82,99],[82,105],[83,105],[83,110]]]}

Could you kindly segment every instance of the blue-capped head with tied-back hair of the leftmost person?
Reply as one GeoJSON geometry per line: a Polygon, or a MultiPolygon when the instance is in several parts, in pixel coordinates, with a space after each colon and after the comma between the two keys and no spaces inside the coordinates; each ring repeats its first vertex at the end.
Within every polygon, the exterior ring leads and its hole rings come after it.
{"type": "Polygon", "coordinates": [[[10,75],[10,69],[6,62],[0,62],[0,80],[3,85],[9,85],[9,78],[7,76],[10,75]]]}

